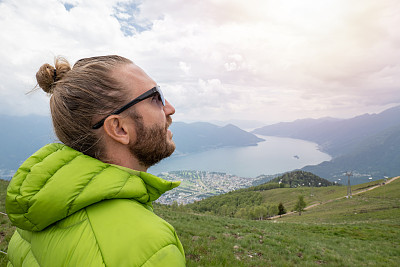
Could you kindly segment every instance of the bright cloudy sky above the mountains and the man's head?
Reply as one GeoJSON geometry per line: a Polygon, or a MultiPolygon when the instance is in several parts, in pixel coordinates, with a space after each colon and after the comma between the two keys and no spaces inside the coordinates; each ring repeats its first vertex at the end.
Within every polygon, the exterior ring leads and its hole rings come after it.
{"type": "Polygon", "coordinates": [[[0,114],[48,115],[35,73],[118,54],[176,121],[350,118],[400,104],[398,0],[0,0],[0,114]]]}

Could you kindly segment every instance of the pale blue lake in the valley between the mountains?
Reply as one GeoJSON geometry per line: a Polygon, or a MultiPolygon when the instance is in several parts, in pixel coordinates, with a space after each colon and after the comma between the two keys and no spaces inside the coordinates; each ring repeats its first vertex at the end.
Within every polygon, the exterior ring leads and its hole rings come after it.
{"type": "Polygon", "coordinates": [[[265,141],[257,146],[229,147],[164,159],[148,172],[199,170],[255,178],[261,174],[278,174],[307,165],[331,160],[316,143],[276,136],[257,135],[265,141]]]}

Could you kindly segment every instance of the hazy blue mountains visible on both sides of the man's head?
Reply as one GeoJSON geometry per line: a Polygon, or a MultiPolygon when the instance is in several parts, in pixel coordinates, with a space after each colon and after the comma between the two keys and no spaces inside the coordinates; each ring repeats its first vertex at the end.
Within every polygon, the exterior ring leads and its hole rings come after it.
{"type": "MultiPolygon", "coordinates": [[[[50,117],[0,116],[0,178],[9,179],[19,165],[47,143],[57,142],[50,117]]],[[[187,154],[221,147],[256,145],[263,139],[232,124],[174,122],[176,153],[187,154]]]]}

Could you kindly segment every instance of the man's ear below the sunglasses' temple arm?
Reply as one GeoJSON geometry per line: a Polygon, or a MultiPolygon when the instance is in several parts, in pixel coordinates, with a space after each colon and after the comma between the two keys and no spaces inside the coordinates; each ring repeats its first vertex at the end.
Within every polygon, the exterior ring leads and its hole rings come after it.
{"type": "Polygon", "coordinates": [[[129,144],[132,138],[136,138],[133,127],[129,127],[127,118],[119,115],[111,115],[104,121],[104,131],[114,141],[123,145],[129,144]],[[133,136],[134,135],[134,136],[133,136]]]}

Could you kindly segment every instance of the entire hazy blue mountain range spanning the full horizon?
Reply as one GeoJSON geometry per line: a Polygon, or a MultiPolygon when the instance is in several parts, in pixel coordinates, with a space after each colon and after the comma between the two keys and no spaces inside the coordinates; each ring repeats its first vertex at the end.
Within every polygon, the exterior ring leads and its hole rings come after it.
{"type": "MultiPolygon", "coordinates": [[[[41,116],[0,116],[0,178],[10,175],[32,153],[55,142],[51,120],[41,116]]],[[[343,172],[374,177],[400,174],[400,106],[379,114],[351,119],[304,119],[258,128],[251,133],[235,125],[174,122],[171,125],[177,154],[221,147],[252,146],[263,139],[255,134],[290,137],[317,143],[333,156],[329,162],[302,170],[334,181],[343,172]]]]}

